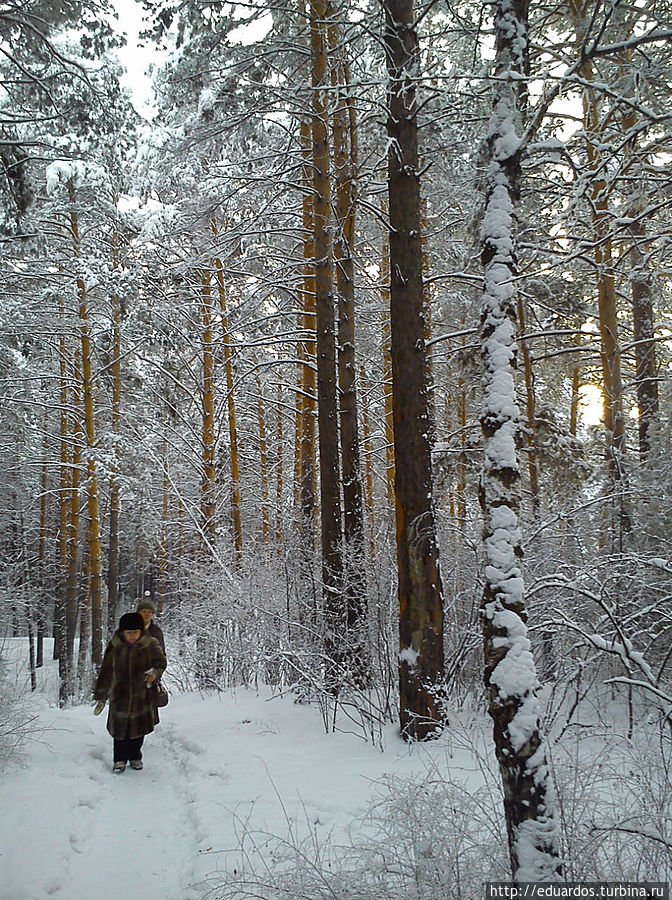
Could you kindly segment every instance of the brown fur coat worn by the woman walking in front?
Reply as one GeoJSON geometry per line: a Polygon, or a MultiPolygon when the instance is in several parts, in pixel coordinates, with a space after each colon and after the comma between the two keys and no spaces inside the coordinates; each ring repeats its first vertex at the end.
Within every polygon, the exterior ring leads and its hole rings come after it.
{"type": "Polygon", "coordinates": [[[156,669],[157,680],[166,668],[156,638],[145,633],[130,646],[115,631],[93,692],[95,700],[110,701],[107,730],[113,738],[138,738],[154,731],[159,715],[145,683],[145,672],[151,668],[156,669]]]}

